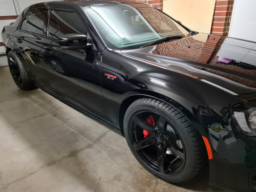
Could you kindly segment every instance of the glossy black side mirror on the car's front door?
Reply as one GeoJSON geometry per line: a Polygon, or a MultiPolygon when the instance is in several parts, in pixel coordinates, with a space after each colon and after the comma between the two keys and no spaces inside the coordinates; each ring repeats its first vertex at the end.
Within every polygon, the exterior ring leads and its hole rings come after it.
{"type": "Polygon", "coordinates": [[[69,33],[58,38],[61,49],[90,49],[93,45],[87,43],[87,36],[79,33],[69,33]]]}

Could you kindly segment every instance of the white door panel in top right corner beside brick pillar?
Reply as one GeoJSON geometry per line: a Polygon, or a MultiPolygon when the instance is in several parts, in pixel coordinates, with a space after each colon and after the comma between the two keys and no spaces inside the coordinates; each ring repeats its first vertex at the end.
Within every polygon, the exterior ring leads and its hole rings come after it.
{"type": "Polygon", "coordinates": [[[229,36],[256,41],[256,1],[235,0],[229,36]]]}

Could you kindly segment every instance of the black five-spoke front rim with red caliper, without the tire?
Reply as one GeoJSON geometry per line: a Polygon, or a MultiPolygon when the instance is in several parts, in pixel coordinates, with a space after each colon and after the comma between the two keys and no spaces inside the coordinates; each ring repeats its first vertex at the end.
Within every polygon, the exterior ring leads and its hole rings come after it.
{"type": "Polygon", "coordinates": [[[137,112],[130,120],[132,147],[159,174],[173,175],[185,164],[185,148],[172,123],[155,112],[137,112]]]}

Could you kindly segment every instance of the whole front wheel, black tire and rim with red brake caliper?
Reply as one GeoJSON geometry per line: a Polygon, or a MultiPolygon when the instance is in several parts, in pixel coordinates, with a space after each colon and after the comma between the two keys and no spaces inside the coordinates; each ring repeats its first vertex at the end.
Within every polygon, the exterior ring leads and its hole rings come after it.
{"type": "Polygon", "coordinates": [[[139,163],[166,182],[188,181],[204,165],[202,138],[170,104],[149,98],[134,101],[124,115],[124,135],[139,163]]]}

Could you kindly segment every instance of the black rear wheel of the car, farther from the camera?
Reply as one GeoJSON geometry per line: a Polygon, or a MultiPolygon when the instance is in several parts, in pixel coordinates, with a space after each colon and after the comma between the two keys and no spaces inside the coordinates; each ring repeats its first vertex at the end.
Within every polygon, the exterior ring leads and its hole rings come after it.
{"type": "Polygon", "coordinates": [[[20,61],[18,56],[13,51],[9,51],[7,54],[7,58],[12,78],[16,85],[19,87],[19,89],[35,89],[35,84],[30,79],[27,71],[24,68],[22,61],[20,61]]]}

